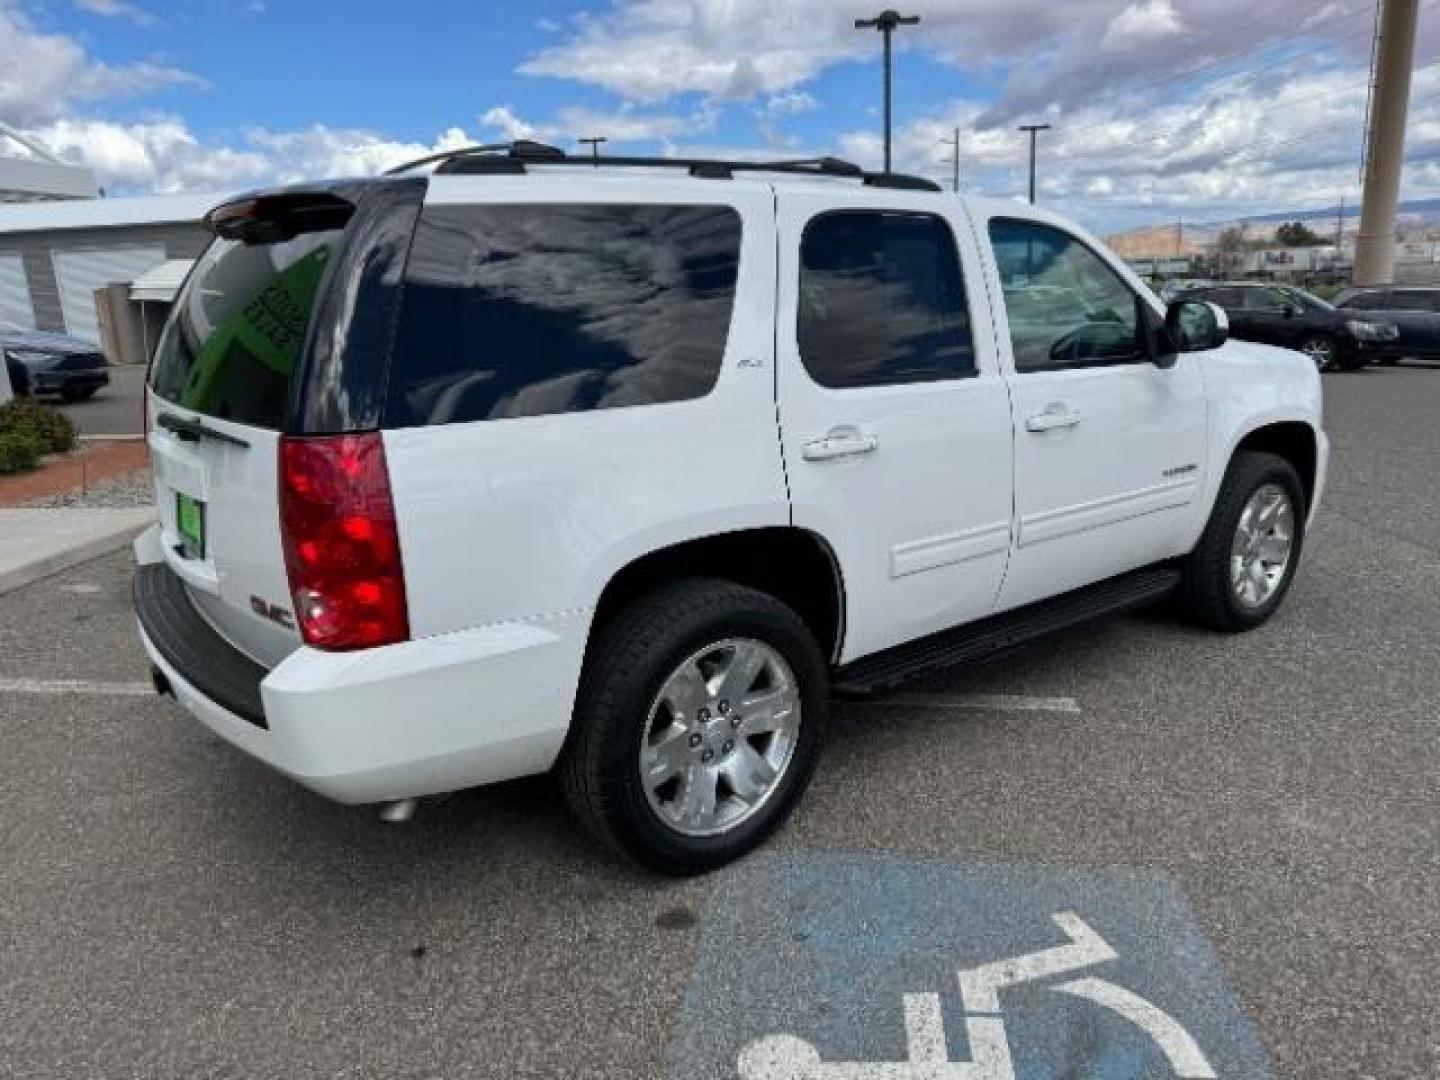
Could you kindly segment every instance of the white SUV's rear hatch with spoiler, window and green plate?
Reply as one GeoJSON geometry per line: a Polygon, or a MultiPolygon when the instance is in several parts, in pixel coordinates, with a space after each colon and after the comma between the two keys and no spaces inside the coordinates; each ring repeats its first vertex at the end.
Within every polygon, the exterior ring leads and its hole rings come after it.
{"type": "MultiPolygon", "coordinates": [[[[328,192],[311,202],[323,212],[278,193],[210,215],[219,236],[176,301],[145,402],[166,562],[200,615],[265,667],[301,644],[281,536],[281,438],[317,433],[304,383],[327,377],[317,351],[331,367],[343,361],[336,343],[364,292],[366,259],[351,251],[364,215],[328,192]],[[356,261],[361,271],[347,276],[356,261]]],[[[331,419],[337,431],[366,420],[331,419]]]]}

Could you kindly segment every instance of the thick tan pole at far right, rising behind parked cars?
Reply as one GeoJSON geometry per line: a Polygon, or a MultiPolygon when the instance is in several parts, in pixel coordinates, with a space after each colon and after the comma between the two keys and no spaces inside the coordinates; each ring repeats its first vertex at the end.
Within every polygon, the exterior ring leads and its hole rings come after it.
{"type": "Polygon", "coordinates": [[[1395,276],[1395,210],[1405,160],[1405,112],[1416,65],[1420,0],[1381,0],[1365,153],[1365,192],[1355,238],[1355,285],[1388,285],[1395,276]]]}

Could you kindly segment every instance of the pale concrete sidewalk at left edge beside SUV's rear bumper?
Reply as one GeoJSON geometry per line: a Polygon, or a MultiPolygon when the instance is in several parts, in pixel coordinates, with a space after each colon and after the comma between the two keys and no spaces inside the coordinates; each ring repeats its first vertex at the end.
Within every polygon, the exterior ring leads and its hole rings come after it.
{"type": "Polygon", "coordinates": [[[0,510],[0,593],[117,552],[154,520],[154,507],[0,510]]]}

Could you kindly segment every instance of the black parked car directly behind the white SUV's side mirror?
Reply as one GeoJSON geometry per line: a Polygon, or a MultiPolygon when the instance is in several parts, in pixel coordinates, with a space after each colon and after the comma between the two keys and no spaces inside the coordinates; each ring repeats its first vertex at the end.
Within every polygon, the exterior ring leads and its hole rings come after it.
{"type": "Polygon", "coordinates": [[[1320,372],[1352,372],[1387,354],[1400,338],[1388,318],[1339,311],[1293,285],[1251,281],[1221,282],[1181,292],[1181,300],[1208,300],[1230,315],[1230,333],[1305,353],[1320,372]]]}

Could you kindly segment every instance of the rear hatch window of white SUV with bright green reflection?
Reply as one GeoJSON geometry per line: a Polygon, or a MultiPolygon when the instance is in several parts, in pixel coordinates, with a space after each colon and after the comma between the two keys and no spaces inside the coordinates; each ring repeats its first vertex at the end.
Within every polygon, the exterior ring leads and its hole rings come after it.
{"type": "Polygon", "coordinates": [[[279,429],[340,236],[333,230],[284,243],[212,243],[156,346],[156,395],[207,416],[279,429]]]}

